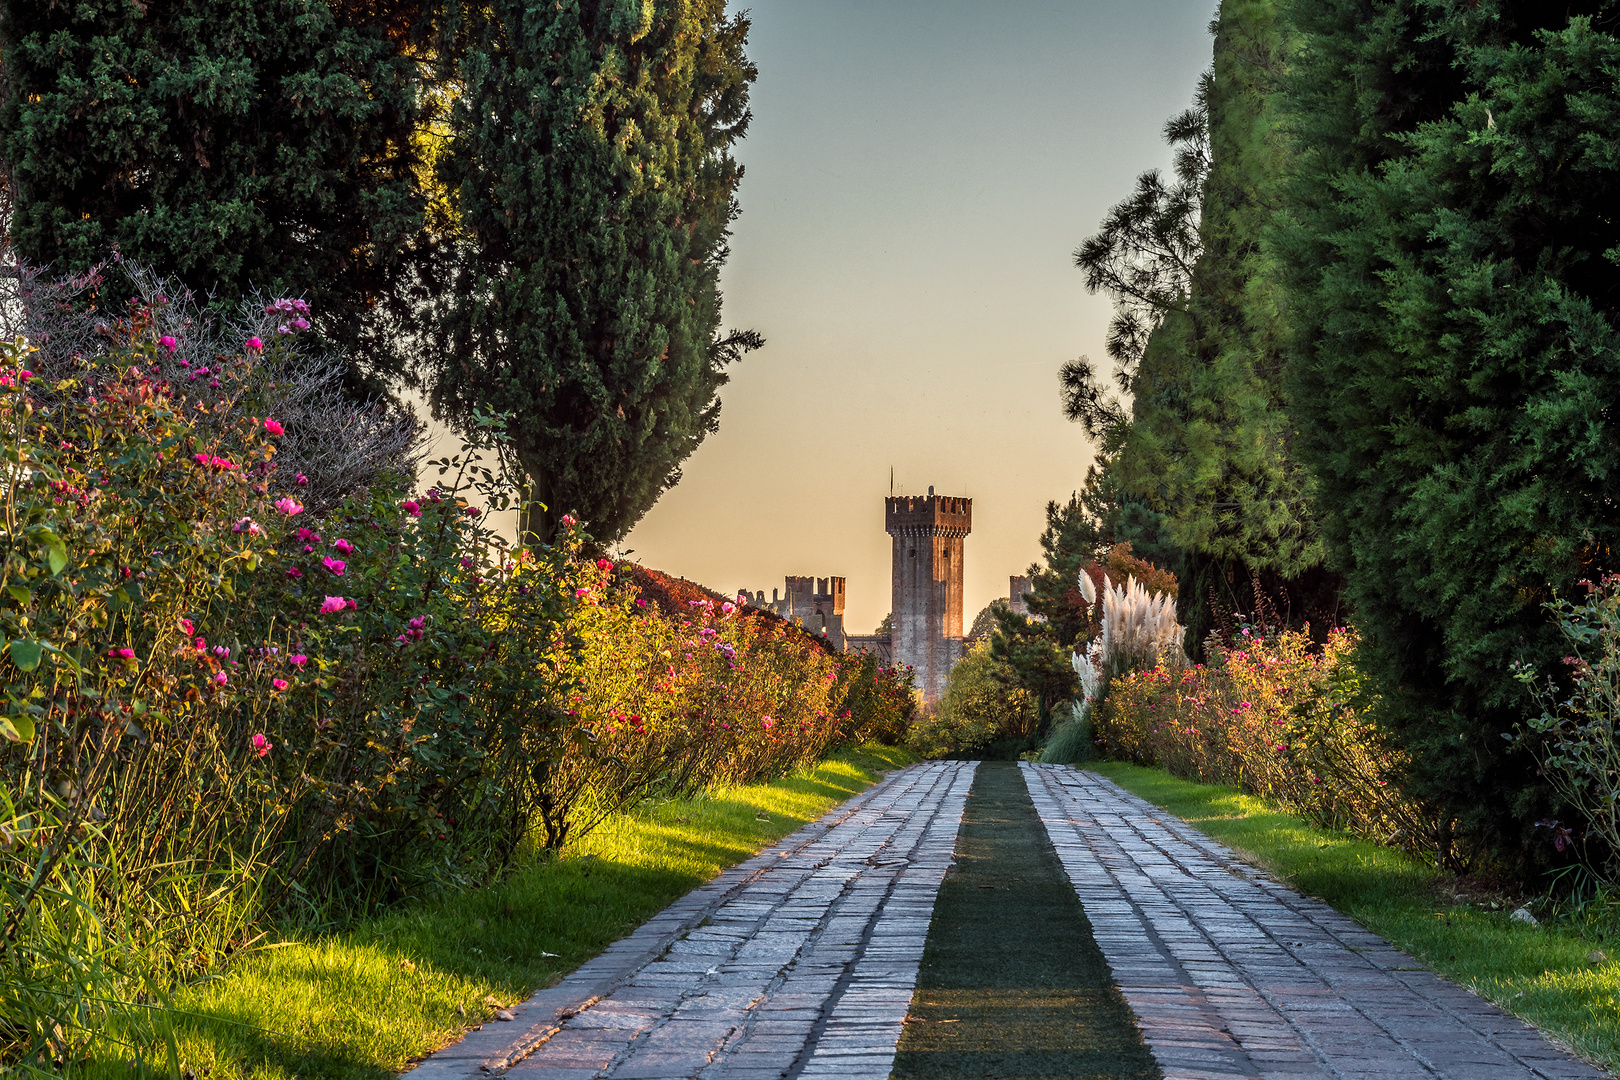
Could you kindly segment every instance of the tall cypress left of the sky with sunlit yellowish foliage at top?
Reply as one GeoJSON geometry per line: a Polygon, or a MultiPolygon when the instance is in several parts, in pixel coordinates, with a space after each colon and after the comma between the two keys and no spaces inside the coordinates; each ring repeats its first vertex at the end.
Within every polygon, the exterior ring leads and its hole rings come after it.
{"type": "Polygon", "coordinates": [[[431,366],[439,416],[514,415],[526,528],[624,536],[714,431],[755,68],[724,0],[494,0],[460,11],[439,175],[463,232],[431,366]]]}

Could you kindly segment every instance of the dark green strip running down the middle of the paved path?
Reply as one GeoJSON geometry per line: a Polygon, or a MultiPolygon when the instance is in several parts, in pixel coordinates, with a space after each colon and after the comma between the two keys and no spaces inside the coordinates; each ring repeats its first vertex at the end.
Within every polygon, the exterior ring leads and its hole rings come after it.
{"type": "Polygon", "coordinates": [[[1160,1075],[1011,761],[978,766],[893,1075],[1160,1075]]]}

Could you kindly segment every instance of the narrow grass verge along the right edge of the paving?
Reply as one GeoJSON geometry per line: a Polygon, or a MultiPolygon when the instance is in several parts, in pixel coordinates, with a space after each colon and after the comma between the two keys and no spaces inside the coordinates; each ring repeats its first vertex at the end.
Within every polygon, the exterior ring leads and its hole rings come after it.
{"type": "Polygon", "coordinates": [[[1121,763],[1087,767],[1325,900],[1588,1061],[1620,1070],[1620,963],[1602,955],[1615,944],[1612,925],[1513,923],[1510,905],[1492,910],[1490,897],[1458,902],[1456,881],[1432,866],[1317,829],[1233,787],[1121,763]]]}

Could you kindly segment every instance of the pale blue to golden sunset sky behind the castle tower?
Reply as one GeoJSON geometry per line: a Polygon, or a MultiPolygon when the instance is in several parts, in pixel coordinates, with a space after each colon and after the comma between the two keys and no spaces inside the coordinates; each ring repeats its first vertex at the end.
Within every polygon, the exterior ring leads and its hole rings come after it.
{"type": "Polygon", "coordinates": [[[1213,0],[755,0],[719,432],[624,542],[716,589],[847,578],[889,610],[883,497],[974,500],[966,619],[1038,557],[1092,450],[1058,366],[1103,359],[1072,251],[1209,66],[1213,0]]]}

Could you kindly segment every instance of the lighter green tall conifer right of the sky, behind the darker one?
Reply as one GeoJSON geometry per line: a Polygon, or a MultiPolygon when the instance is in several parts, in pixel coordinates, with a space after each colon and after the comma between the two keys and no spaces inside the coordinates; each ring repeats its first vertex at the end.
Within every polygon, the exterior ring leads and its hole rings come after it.
{"type": "MultiPolygon", "coordinates": [[[[1264,243],[1290,157],[1277,94],[1288,31],[1278,0],[1225,0],[1212,29],[1197,104],[1165,130],[1178,183],[1145,175],[1076,254],[1087,285],[1115,295],[1119,311],[1108,347],[1131,413],[1115,421],[1110,458],[1129,508],[1121,520],[1149,536],[1128,526],[1118,539],[1150,559],[1155,525],[1168,539],[1194,651],[1213,625],[1212,597],[1249,607],[1252,583],[1290,622],[1325,633],[1338,614],[1293,450],[1286,309],[1264,243]]],[[[1081,392],[1081,374],[1068,372],[1066,405],[1098,427],[1098,393],[1081,392]]]]}

